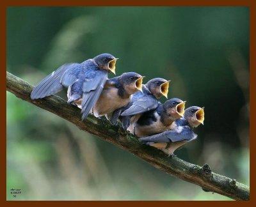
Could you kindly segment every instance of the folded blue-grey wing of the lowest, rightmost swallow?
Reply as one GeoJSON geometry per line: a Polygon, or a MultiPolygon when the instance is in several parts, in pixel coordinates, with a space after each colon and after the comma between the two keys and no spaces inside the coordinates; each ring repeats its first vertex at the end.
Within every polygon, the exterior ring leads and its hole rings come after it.
{"type": "Polygon", "coordinates": [[[196,139],[197,135],[193,130],[188,127],[177,127],[175,130],[168,130],[166,132],[151,135],[148,137],[140,138],[141,142],[179,142],[179,141],[191,141],[196,139]]]}

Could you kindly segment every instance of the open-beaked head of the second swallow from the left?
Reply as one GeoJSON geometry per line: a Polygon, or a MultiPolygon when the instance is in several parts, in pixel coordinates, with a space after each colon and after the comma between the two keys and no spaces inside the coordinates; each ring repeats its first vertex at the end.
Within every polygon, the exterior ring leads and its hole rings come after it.
{"type": "Polygon", "coordinates": [[[119,77],[120,83],[124,86],[125,91],[132,95],[137,91],[142,91],[142,82],[145,76],[141,76],[138,73],[128,72],[123,73],[119,77]]]}

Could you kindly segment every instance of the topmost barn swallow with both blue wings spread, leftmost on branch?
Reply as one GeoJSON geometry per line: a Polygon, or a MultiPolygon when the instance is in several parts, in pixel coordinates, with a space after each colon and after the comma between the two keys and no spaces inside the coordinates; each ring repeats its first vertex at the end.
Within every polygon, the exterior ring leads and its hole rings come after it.
{"type": "Polygon", "coordinates": [[[100,54],[83,63],[67,63],[45,77],[33,89],[31,99],[44,98],[68,88],[68,104],[81,104],[82,120],[88,116],[97,102],[108,73],[115,74],[118,58],[111,54],[100,54]]]}

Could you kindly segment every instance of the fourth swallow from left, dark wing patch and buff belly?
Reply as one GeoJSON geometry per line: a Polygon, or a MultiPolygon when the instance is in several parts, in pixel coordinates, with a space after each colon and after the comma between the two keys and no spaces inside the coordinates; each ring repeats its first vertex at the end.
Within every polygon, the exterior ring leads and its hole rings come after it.
{"type": "Polygon", "coordinates": [[[173,121],[182,118],[186,102],[179,98],[159,103],[156,109],[144,112],[134,123],[134,134],[138,137],[147,137],[170,130],[173,121]]]}

